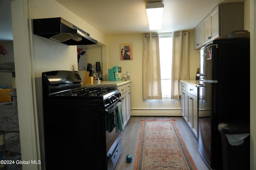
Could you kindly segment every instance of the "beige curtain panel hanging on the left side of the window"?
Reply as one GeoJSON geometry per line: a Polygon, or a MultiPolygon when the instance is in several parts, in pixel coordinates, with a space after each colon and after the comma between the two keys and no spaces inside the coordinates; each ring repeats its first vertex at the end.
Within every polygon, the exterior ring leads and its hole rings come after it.
{"type": "Polygon", "coordinates": [[[162,99],[158,33],[143,35],[143,99],[162,99]]]}

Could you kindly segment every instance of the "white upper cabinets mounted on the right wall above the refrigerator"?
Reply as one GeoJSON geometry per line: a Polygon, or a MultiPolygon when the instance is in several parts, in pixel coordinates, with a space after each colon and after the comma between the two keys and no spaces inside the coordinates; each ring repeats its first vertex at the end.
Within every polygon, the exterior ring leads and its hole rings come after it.
{"type": "Polygon", "coordinates": [[[219,4],[194,29],[194,49],[200,49],[203,45],[214,40],[216,37],[243,29],[244,2],[219,4]],[[201,40],[203,43],[201,43],[201,40]]]}

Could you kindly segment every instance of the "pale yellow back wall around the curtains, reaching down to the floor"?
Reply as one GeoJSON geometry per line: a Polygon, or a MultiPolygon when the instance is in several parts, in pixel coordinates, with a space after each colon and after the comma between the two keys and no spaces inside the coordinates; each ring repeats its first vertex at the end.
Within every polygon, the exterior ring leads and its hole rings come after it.
{"type": "MultiPolygon", "coordinates": [[[[132,80],[132,115],[181,115],[180,100],[142,99],[142,45],[143,35],[108,37],[108,68],[122,67],[122,74],[130,71],[132,80]],[[120,60],[120,44],[132,43],[133,60],[120,60]],[[144,111],[142,111],[144,110],[144,111]],[[152,113],[149,110],[154,110],[152,113]]],[[[194,50],[194,31],[189,31],[190,77],[195,79],[199,66],[199,51],[194,50]]],[[[121,74],[121,75],[122,75],[121,74]]]]}

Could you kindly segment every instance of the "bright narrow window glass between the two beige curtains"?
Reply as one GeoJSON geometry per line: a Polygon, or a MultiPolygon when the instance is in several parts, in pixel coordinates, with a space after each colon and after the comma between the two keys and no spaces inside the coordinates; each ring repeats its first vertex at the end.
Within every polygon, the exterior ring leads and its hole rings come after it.
{"type": "Polygon", "coordinates": [[[159,53],[161,67],[162,98],[170,98],[172,76],[172,36],[170,33],[159,34],[159,53]]]}

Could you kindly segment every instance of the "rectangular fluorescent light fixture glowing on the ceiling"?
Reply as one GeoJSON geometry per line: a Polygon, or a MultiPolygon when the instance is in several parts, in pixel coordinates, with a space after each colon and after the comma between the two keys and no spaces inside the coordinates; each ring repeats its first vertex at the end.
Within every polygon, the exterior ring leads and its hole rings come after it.
{"type": "Polygon", "coordinates": [[[162,29],[164,4],[162,2],[148,2],[146,5],[148,25],[150,30],[162,29]]]}

